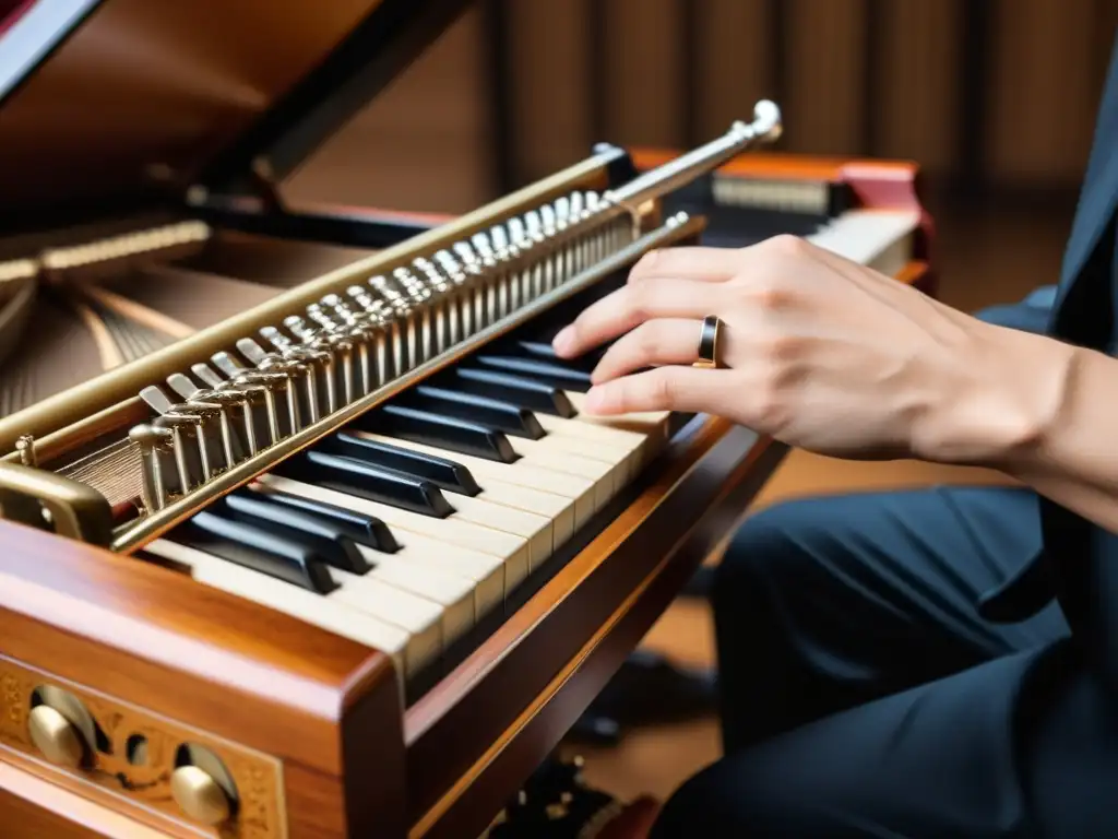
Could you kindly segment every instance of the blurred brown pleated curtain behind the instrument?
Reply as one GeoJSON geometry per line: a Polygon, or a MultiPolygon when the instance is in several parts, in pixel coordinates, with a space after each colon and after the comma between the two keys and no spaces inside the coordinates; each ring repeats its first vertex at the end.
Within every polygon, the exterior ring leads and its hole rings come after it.
{"type": "Polygon", "coordinates": [[[1116,23],[1118,0],[482,0],[288,188],[461,211],[768,96],[783,150],[1040,199],[1081,176],[1116,23]]]}

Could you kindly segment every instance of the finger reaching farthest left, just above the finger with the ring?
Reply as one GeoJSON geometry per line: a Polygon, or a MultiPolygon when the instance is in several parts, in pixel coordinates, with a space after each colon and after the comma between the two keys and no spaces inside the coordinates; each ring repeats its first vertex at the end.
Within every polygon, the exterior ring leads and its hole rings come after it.
{"type": "Polygon", "coordinates": [[[724,309],[726,293],[720,293],[721,287],[694,280],[661,277],[631,283],[588,307],[556,336],[552,347],[560,357],[574,358],[647,320],[702,320],[724,309]]]}

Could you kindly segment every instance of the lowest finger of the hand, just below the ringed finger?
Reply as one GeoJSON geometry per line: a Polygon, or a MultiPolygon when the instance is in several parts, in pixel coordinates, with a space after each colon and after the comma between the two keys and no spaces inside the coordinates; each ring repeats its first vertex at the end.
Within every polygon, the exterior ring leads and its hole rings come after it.
{"type": "Polygon", "coordinates": [[[699,367],[657,367],[595,385],[586,395],[586,411],[607,416],[644,411],[720,414],[735,390],[727,381],[729,374],[699,367]]]}

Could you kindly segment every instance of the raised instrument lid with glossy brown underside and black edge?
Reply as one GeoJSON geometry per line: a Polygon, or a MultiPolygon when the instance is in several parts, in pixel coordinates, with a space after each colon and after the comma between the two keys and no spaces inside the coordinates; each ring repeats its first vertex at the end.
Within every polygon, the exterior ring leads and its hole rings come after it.
{"type": "Polygon", "coordinates": [[[467,2],[27,0],[0,22],[0,235],[282,179],[467,2]]]}

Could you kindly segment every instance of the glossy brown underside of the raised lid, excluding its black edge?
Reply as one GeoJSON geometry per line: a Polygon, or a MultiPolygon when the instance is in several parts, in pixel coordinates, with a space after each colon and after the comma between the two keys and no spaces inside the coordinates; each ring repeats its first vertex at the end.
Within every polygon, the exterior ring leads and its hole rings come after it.
{"type": "Polygon", "coordinates": [[[6,199],[61,211],[189,185],[379,3],[106,0],[0,107],[6,199]]]}

